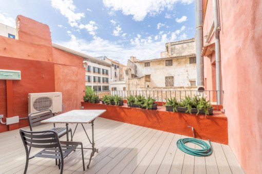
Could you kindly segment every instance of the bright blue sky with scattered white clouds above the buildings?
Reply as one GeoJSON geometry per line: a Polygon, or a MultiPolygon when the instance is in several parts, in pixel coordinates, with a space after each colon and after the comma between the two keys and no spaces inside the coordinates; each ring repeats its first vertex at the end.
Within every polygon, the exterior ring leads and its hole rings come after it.
{"type": "Polygon", "coordinates": [[[54,44],[123,64],[195,35],[194,0],[1,0],[0,23],[15,27],[18,14],[47,24],[54,44]]]}

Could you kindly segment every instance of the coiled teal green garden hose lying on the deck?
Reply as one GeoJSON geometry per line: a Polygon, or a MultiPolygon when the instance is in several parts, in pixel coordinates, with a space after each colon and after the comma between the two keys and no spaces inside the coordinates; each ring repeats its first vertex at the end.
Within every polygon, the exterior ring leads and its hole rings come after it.
{"type": "Polygon", "coordinates": [[[208,145],[208,143],[196,138],[183,138],[177,141],[177,147],[180,150],[182,150],[186,154],[194,155],[197,157],[204,157],[212,154],[213,149],[210,141],[209,144],[210,146],[208,145]],[[185,143],[194,143],[196,145],[199,145],[202,149],[191,148],[189,146],[186,146],[185,143]]]}

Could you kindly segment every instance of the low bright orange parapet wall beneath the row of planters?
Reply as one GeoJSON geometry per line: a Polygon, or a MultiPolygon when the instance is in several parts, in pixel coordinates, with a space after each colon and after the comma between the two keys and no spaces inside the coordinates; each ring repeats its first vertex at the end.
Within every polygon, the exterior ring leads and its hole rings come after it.
{"type": "Polygon", "coordinates": [[[145,110],[141,108],[114,106],[106,104],[93,104],[82,102],[85,110],[106,110],[100,117],[140,125],[144,127],[163,130],[175,134],[193,137],[195,129],[196,138],[228,144],[228,121],[221,113],[214,116],[204,116],[165,111],[165,107],[158,110],[145,110]]]}

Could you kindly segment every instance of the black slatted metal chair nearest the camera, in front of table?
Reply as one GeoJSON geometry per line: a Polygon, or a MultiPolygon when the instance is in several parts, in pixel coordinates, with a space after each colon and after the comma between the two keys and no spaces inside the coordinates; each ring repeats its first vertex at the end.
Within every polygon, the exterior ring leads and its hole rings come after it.
{"type": "Polygon", "coordinates": [[[60,141],[58,133],[55,132],[54,130],[32,132],[32,131],[20,129],[20,135],[26,149],[26,167],[25,167],[24,174],[26,174],[29,160],[34,157],[51,158],[56,160],[58,159],[59,169],[61,168],[60,173],[62,174],[64,168],[64,159],[73,150],[76,150],[78,145],[81,145],[83,169],[85,170],[82,142],[60,141]],[[35,148],[45,148],[45,149],[40,151],[38,154],[29,157],[28,146],[35,147],[35,148]]]}

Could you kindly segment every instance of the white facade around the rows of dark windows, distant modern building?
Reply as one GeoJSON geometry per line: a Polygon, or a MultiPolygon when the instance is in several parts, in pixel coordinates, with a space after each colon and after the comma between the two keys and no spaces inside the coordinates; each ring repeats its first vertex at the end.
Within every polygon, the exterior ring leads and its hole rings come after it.
{"type": "Polygon", "coordinates": [[[92,63],[92,62],[88,62],[88,61],[83,61],[84,63],[87,63],[88,66],[91,66],[91,72],[85,72],[85,75],[91,76],[91,82],[85,82],[86,86],[91,86],[93,89],[93,86],[101,86],[101,90],[103,89],[102,86],[108,86],[108,90],[110,90],[110,68],[106,67],[106,66],[102,66],[101,64],[97,64],[97,63],[92,63]],[[101,69],[101,73],[100,74],[96,74],[93,73],[93,67],[97,67],[101,69]],[[102,74],[102,69],[108,70],[108,75],[103,75],[102,74]],[[97,76],[97,77],[101,77],[101,81],[100,83],[95,83],[93,82],[93,76],[97,76]],[[102,77],[106,77],[108,78],[108,83],[103,83],[102,77]]]}

